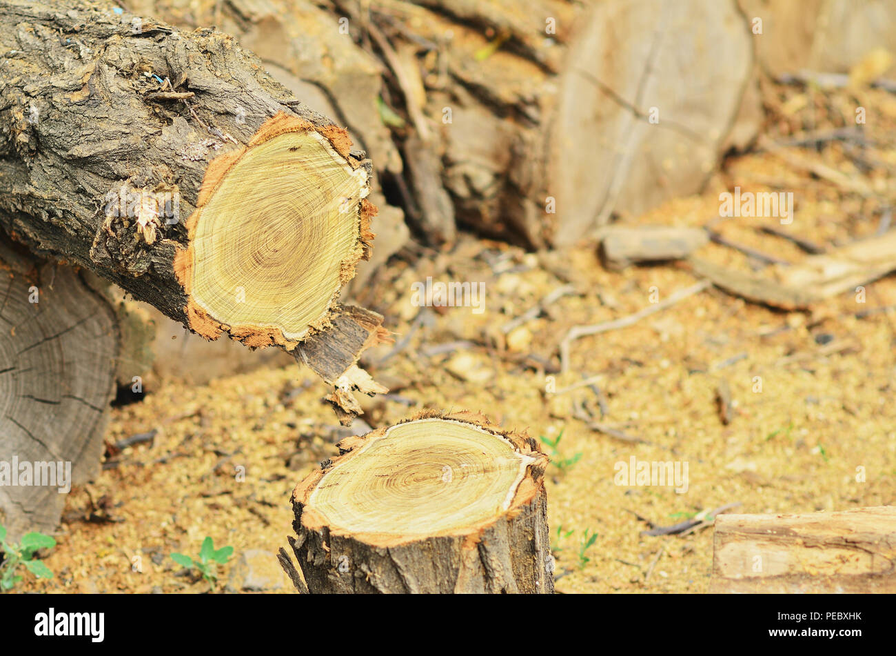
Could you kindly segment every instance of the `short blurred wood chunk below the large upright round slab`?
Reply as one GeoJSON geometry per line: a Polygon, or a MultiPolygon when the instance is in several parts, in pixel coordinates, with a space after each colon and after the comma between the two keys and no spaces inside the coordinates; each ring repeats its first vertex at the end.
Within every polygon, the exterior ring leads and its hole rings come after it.
{"type": "Polygon", "coordinates": [[[604,232],[599,255],[607,268],[618,271],[632,263],[680,260],[708,241],[700,228],[613,227],[604,232]]]}

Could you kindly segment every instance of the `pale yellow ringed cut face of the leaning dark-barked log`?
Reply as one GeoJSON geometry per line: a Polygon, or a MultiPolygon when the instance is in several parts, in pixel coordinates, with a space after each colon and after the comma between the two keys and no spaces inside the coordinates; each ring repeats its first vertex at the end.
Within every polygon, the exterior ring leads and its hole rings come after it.
{"type": "Polygon", "coordinates": [[[231,328],[303,338],[360,259],[366,182],[364,168],[351,168],[313,131],[247,149],[188,226],[192,301],[231,328]]]}

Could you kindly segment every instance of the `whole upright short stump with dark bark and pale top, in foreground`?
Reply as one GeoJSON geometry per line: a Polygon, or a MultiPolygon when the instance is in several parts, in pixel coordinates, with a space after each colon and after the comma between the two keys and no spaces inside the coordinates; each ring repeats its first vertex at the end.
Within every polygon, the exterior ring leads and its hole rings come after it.
{"type": "Polygon", "coordinates": [[[308,591],[554,591],[547,457],[532,438],[428,412],[339,448],[292,496],[308,591]]]}

